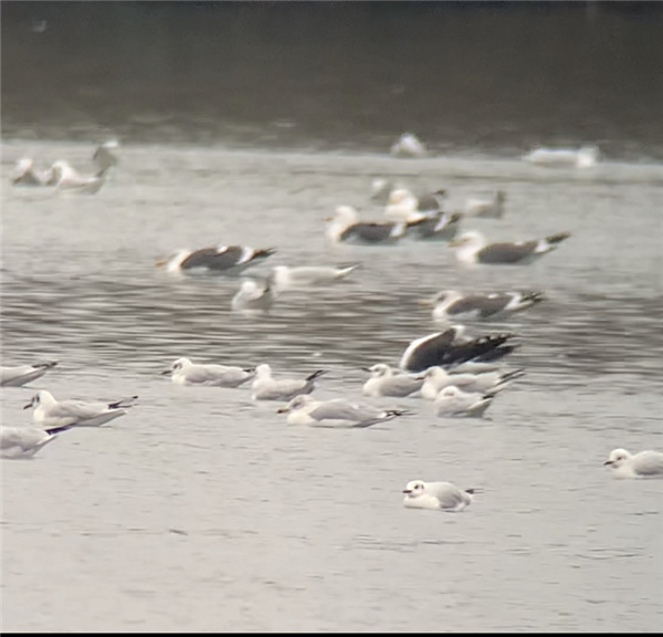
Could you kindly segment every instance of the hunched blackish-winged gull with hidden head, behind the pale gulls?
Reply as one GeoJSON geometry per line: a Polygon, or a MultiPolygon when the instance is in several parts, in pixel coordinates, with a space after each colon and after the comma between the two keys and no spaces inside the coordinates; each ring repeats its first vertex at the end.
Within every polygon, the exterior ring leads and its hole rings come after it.
{"type": "Polygon", "coordinates": [[[412,341],[406,348],[400,368],[406,372],[425,372],[438,365],[449,367],[473,362],[493,362],[511,354],[517,345],[506,345],[515,334],[492,334],[471,338],[462,325],[452,325],[412,341]]]}

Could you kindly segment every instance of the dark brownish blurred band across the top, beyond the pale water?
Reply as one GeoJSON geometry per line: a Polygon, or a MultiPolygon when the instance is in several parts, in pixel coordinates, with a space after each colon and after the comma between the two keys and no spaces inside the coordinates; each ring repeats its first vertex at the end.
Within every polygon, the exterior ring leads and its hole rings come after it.
{"type": "Polygon", "coordinates": [[[2,0],[1,134],[663,158],[663,3],[2,0]]]}

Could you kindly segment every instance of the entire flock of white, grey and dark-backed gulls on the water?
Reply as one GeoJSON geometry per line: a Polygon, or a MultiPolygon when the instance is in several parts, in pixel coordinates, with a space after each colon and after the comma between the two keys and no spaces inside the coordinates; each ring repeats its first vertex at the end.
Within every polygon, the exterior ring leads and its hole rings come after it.
{"type": "MultiPolygon", "coordinates": [[[[96,194],[107,175],[118,165],[116,140],[103,143],[92,156],[90,173],[80,173],[64,160],[44,170],[34,168],[32,159],[21,159],[12,178],[17,187],[59,188],[67,192],[96,194]]],[[[402,135],[391,147],[397,157],[425,157],[430,153],[412,134],[402,135]]],[[[598,149],[536,148],[523,160],[539,166],[589,168],[599,158],[598,149]]],[[[556,232],[543,238],[513,242],[491,242],[476,230],[463,231],[469,220],[502,219],[506,194],[497,190],[486,197],[466,199],[459,209],[448,205],[446,191],[412,192],[389,179],[375,179],[370,198],[383,206],[383,218],[360,220],[351,206],[338,206],[328,217],[325,228],[332,244],[390,246],[403,238],[420,241],[444,241],[455,249],[463,267],[513,267],[533,263],[566,241],[569,232],[556,232]]],[[[207,246],[178,249],[157,261],[169,274],[238,275],[275,253],[274,248],[245,246],[207,246]]],[[[231,307],[242,313],[269,312],[281,294],[290,290],[328,286],[355,275],[359,264],[343,267],[276,265],[267,276],[240,279],[231,307]]],[[[524,375],[524,369],[501,366],[518,347],[515,334],[497,333],[470,335],[459,321],[505,318],[525,312],[545,301],[539,291],[474,291],[443,290],[420,301],[432,307],[432,316],[441,324],[433,334],[413,340],[402,353],[398,366],[377,363],[365,367],[368,378],[362,387],[367,397],[418,398],[430,400],[441,418],[481,418],[501,391],[524,375]]],[[[0,386],[20,387],[32,383],[56,367],[55,362],[0,367],[0,386]]],[[[280,401],[276,409],[285,415],[288,425],[315,427],[368,428],[393,420],[411,411],[382,409],[344,398],[317,400],[313,393],[325,369],[299,378],[274,375],[267,364],[240,367],[193,363],[180,357],[162,374],[178,385],[239,388],[250,386],[253,400],[280,401]]],[[[33,424],[25,427],[0,427],[0,452],[3,458],[31,458],[59,434],[75,427],[99,427],[136,405],[138,397],[110,403],[57,400],[50,391],[36,391],[24,406],[32,408],[33,424]]],[[[606,466],[622,478],[663,477],[663,453],[642,451],[631,455],[614,449],[606,466]]],[[[473,500],[477,489],[459,489],[450,482],[413,480],[403,489],[403,505],[408,508],[462,511],[473,500]]]]}

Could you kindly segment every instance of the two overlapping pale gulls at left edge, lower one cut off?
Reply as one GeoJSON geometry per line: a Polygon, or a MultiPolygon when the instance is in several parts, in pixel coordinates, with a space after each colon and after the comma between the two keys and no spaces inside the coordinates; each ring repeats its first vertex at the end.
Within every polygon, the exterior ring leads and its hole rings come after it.
{"type": "Polygon", "coordinates": [[[0,457],[32,458],[57,434],[74,427],[101,427],[127,413],[138,396],[112,403],[57,401],[42,389],[23,408],[33,408],[34,427],[0,427],[0,457]]]}

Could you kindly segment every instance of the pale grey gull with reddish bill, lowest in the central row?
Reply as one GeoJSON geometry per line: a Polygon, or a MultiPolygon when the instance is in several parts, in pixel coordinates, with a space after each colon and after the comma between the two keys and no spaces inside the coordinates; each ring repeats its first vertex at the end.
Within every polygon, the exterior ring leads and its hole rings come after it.
{"type": "Polygon", "coordinates": [[[407,414],[403,409],[379,409],[372,405],[354,405],[347,400],[316,400],[312,396],[295,396],[278,414],[287,414],[288,425],[326,427],[370,427],[407,414]]]}

